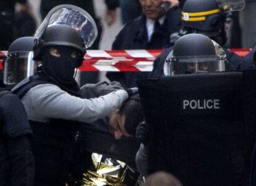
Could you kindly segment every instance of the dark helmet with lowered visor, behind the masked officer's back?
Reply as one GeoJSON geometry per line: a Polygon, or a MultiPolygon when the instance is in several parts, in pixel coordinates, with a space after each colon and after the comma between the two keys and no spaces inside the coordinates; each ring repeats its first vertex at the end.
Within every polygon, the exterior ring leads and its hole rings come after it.
{"type": "Polygon", "coordinates": [[[38,62],[33,61],[33,47],[36,38],[32,36],[18,38],[9,46],[4,61],[4,83],[14,85],[24,78],[35,74],[38,62]]]}

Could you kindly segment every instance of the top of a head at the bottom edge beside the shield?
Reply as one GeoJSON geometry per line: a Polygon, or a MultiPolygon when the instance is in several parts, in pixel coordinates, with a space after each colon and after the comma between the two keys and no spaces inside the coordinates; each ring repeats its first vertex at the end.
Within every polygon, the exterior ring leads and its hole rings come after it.
{"type": "Polygon", "coordinates": [[[155,172],[148,175],[147,180],[143,186],[182,186],[182,183],[177,177],[168,172],[155,172]]]}

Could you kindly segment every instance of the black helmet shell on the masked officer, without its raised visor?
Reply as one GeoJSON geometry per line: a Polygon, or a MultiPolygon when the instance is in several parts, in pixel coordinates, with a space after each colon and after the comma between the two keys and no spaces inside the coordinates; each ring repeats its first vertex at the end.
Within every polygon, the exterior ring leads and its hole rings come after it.
{"type": "Polygon", "coordinates": [[[34,60],[41,61],[41,54],[44,49],[50,47],[64,46],[78,51],[79,57],[75,67],[80,67],[85,54],[85,46],[79,31],[68,25],[51,25],[47,27],[34,49],[34,60]]]}

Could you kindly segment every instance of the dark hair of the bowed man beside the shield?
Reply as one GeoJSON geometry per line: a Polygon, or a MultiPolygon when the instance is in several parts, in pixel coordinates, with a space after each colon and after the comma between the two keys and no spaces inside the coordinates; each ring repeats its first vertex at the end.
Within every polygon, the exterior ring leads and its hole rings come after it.
{"type": "Polygon", "coordinates": [[[143,121],[143,109],[139,94],[132,96],[119,109],[119,114],[125,116],[124,129],[130,135],[135,135],[136,128],[143,121]]]}

